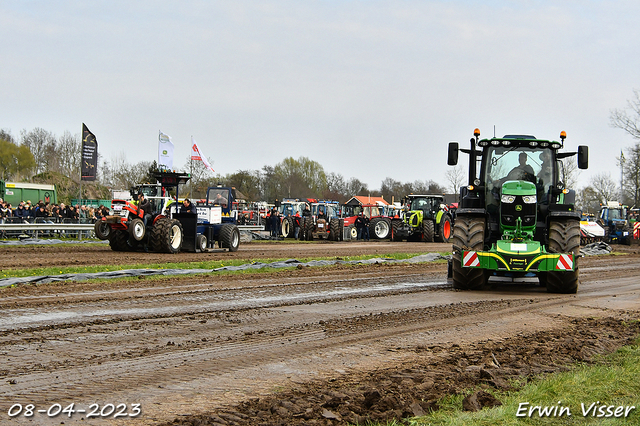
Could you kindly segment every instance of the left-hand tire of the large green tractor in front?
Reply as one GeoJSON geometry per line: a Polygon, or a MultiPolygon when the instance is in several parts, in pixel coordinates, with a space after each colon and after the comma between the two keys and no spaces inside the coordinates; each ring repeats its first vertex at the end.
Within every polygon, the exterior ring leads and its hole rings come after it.
{"type": "Polygon", "coordinates": [[[462,267],[462,250],[481,251],[484,248],[485,218],[458,216],[453,231],[453,288],[481,290],[487,283],[488,272],[480,268],[462,267]]]}

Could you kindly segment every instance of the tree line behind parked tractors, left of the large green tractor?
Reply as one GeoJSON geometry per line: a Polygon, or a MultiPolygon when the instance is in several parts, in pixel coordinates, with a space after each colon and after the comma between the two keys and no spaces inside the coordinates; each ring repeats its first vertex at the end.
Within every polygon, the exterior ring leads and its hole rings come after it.
{"type": "MultiPolygon", "coordinates": [[[[130,163],[124,154],[105,159],[98,154],[98,173],[95,182],[80,181],[80,134],[66,131],[61,137],[35,128],[22,130],[18,138],[10,131],[0,130],[0,176],[3,180],[52,183],[58,198],[69,202],[78,198],[110,198],[111,189],[127,190],[139,183],[154,182],[152,173],[156,161],[130,163]]],[[[400,182],[385,178],[379,189],[370,188],[358,178],[346,178],[328,172],[307,157],[288,157],[274,166],[259,170],[238,170],[228,174],[214,174],[201,161],[185,159],[183,171],[191,174],[191,181],[181,194],[194,199],[203,198],[210,186],[232,186],[248,201],[274,202],[283,198],[321,198],[345,202],[354,195],[382,196],[389,202],[399,201],[414,193],[442,194],[445,187],[434,180],[400,182]]]]}

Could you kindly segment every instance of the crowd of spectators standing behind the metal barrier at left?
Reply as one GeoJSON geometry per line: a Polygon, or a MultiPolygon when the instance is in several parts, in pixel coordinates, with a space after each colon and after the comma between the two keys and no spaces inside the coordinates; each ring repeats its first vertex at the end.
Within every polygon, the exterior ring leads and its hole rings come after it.
{"type": "Polygon", "coordinates": [[[42,200],[31,203],[31,200],[21,201],[12,206],[0,198],[0,222],[94,222],[109,214],[106,206],[94,208],[85,205],[66,205],[65,203],[51,204],[42,200]],[[9,219],[11,218],[11,219],[9,219]],[[9,219],[9,220],[7,220],[9,219]]]}

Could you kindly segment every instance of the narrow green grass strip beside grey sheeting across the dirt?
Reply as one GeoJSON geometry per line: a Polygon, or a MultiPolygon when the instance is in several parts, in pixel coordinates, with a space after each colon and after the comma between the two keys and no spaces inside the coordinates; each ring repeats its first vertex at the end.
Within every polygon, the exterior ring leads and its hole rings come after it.
{"type": "MultiPolygon", "coordinates": [[[[310,260],[367,260],[376,257],[390,258],[396,260],[409,259],[423,253],[390,253],[390,254],[376,254],[376,255],[363,255],[363,256],[342,256],[342,257],[316,257],[316,258],[296,258],[301,262],[308,262],[310,260]]],[[[128,265],[91,265],[91,266],[73,266],[64,268],[24,268],[24,269],[9,269],[3,270],[0,273],[1,278],[13,278],[13,277],[31,277],[41,275],[60,275],[60,274],[76,274],[76,273],[94,273],[94,272],[109,272],[120,271],[123,269],[216,269],[223,266],[239,266],[246,263],[260,262],[271,263],[277,261],[284,261],[288,258],[273,258],[273,259],[229,259],[229,260],[216,260],[216,261],[202,261],[202,262],[173,262],[173,263],[136,263],[128,265]]],[[[294,268],[295,266],[292,266],[294,268]]],[[[260,270],[262,272],[273,272],[275,270],[282,270],[282,268],[265,268],[260,270]]],[[[258,272],[258,270],[247,271],[233,271],[228,273],[241,273],[241,272],[258,272]]]]}

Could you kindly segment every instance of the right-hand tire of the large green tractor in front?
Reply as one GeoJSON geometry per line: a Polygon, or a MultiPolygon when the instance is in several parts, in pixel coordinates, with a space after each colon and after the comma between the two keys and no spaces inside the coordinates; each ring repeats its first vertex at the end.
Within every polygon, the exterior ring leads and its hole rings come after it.
{"type": "Polygon", "coordinates": [[[578,219],[552,220],[549,223],[550,253],[573,254],[573,271],[547,272],[539,274],[541,285],[547,286],[549,293],[575,294],[578,292],[580,256],[580,221],[578,219]]]}

